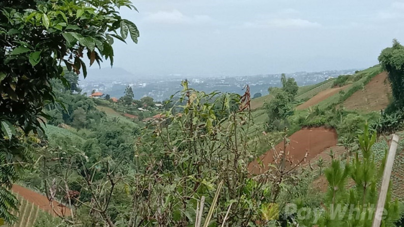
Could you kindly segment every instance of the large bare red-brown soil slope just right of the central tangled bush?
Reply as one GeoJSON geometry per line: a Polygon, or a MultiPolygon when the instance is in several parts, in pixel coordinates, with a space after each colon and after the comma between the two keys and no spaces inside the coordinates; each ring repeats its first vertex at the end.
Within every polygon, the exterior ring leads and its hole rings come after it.
{"type": "MultiPolygon", "coordinates": [[[[336,146],[338,142],[338,135],[335,129],[328,129],[325,127],[318,128],[304,128],[291,137],[289,137],[290,143],[286,146],[286,153],[288,158],[291,158],[294,163],[298,163],[304,158],[306,151],[308,156],[306,161],[315,158],[329,147],[336,146]]],[[[283,142],[275,146],[275,150],[279,152],[283,150],[283,142]]],[[[256,160],[252,161],[248,165],[248,171],[252,174],[261,174],[269,169],[268,165],[273,163],[274,149],[267,151],[259,159],[264,167],[259,166],[256,160]]]]}

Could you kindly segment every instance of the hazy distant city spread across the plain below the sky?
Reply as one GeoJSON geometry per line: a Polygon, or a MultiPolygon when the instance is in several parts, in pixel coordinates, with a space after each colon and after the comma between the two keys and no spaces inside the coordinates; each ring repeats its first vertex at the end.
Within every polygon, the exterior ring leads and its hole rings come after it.
{"type": "MultiPolygon", "coordinates": [[[[119,98],[124,95],[126,86],[133,89],[135,99],[140,99],[143,96],[151,96],[156,101],[163,101],[170,95],[181,90],[181,80],[188,79],[189,86],[200,91],[212,92],[223,91],[230,93],[244,92],[245,85],[250,86],[251,94],[257,92],[263,95],[268,93],[269,87],[281,86],[280,74],[266,75],[245,75],[233,77],[199,77],[199,78],[184,78],[184,77],[134,77],[127,75],[128,72],[120,68],[115,69],[118,75],[114,73],[114,69],[108,71],[100,71],[103,74],[90,76],[89,79],[81,80],[79,86],[82,92],[90,93],[93,90],[109,94],[110,97],[119,98]]],[[[354,74],[355,69],[341,71],[322,71],[322,72],[295,72],[286,74],[287,77],[294,77],[299,86],[316,84],[326,79],[335,78],[339,75],[354,74]]]]}

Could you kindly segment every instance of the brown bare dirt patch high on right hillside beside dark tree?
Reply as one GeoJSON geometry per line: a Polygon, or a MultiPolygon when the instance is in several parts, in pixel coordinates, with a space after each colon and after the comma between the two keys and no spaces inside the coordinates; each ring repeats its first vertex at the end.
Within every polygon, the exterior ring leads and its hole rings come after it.
{"type": "Polygon", "coordinates": [[[383,72],[371,79],[362,90],[345,100],[343,106],[349,110],[378,111],[389,105],[390,94],[391,87],[387,73],[383,72]]]}

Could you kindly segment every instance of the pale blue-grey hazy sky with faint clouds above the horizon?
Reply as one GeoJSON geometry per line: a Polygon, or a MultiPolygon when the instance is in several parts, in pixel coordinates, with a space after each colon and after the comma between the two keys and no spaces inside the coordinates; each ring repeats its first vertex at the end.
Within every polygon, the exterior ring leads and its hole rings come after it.
{"type": "Polygon", "coordinates": [[[138,76],[367,68],[393,38],[404,42],[404,0],[132,2],[139,13],[121,13],[139,42],[116,41],[114,66],[138,76]]]}

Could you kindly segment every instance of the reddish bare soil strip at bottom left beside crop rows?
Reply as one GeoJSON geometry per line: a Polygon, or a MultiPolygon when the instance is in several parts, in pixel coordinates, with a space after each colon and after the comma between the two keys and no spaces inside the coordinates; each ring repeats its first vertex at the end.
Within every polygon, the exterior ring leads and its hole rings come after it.
{"type": "Polygon", "coordinates": [[[52,206],[49,203],[49,200],[46,196],[42,196],[42,194],[27,189],[25,187],[14,184],[12,189],[13,192],[18,193],[25,200],[30,203],[33,203],[35,206],[38,206],[39,209],[48,212],[50,215],[57,216],[59,214],[61,216],[70,216],[70,209],[63,206],[62,204],[53,201],[53,210],[52,206]]]}

